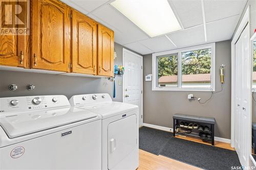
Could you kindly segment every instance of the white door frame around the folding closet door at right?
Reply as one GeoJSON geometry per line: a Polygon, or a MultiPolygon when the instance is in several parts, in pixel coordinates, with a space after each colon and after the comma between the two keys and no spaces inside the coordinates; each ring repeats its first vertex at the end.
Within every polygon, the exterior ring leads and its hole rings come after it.
{"type": "MultiPolygon", "coordinates": [[[[230,140],[230,144],[231,147],[234,148],[234,116],[235,116],[235,112],[236,112],[236,42],[238,41],[240,35],[242,34],[244,28],[247,26],[249,27],[249,37],[250,37],[250,6],[248,6],[243,19],[241,20],[241,23],[237,29],[237,32],[234,33],[234,36],[232,38],[231,41],[231,140],[230,140]]],[[[248,39],[248,41],[250,41],[250,39],[248,39]]],[[[250,50],[250,47],[248,48],[248,50],[250,50]]],[[[251,53],[249,52],[250,56],[249,56],[249,60],[251,61],[251,53]]],[[[251,77],[250,77],[250,81],[249,83],[251,84],[251,77]]],[[[251,108],[251,95],[250,95],[250,101],[249,101],[249,108],[247,109],[249,112],[251,112],[252,108],[251,108]]],[[[250,114],[249,114],[250,115],[250,114]]],[[[248,118],[248,120],[251,120],[251,116],[248,118]]],[[[251,125],[250,123],[248,123],[248,125],[251,125]]],[[[249,127],[249,126],[248,126],[249,127]]],[[[249,131],[248,131],[249,133],[249,131]]],[[[250,136],[250,135],[249,135],[250,136]]],[[[246,141],[250,141],[250,139],[246,139],[246,141]]],[[[250,145],[249,145],[250,147],[250,145]]],[[[250,151],[250,149],[246,149],[247,151],[250,151]]],[[[248,153],[249,155],[250,153],[248,153]]],[[[249,156],[248,156],[249,158],[249,156]]],[[[247,162],[248,166],[249,160],[247,162]]]]}

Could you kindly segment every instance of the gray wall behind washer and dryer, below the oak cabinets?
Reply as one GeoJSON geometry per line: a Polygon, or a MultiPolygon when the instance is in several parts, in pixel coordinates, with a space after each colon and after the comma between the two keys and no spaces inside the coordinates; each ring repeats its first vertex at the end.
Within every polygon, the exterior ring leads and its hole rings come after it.
{"type": "MultiPolygon", "coordinates": [[[[115,64],[117,65],[122,65],[122,48],[122,45],[115,43],[115,50],[117,52],[115,64]]],[[[122,101],[122,85],[118,85],[118,81],[122,81],[122,78],[116,78],[116,98],[114,101],[122,101]]],[[[74,94],[101,92],[107,92],[113,96],[113,81],[109,81],[106,78],[73,77],[0,70],[0,98],[50,94],[63,94],[70,98],[74,94]],[[16,91],[10,91],[8,89],[11,83],[18,85],[16,91]],[[33,91],[27,90],[27,84],[33,84],[36,86],[36,89],[33,91]]]]}

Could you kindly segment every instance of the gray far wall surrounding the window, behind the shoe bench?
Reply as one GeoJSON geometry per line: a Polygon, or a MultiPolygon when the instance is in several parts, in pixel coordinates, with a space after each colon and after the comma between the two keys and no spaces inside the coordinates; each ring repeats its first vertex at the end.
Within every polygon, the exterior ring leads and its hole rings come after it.
{"type": "MultiPolygon", "coordinates": [[[[187,94],[193,93],[202,102],[208,99],[210,92],[198,91],[152,91],[152,82],[143,84],[143,123],[173,128],[175,113],[215,117],[215,136],[230,139],[230,96],[231,96],[231,41],[216,43],[216,91],[221,89],[220,65],[224,70],[223,91],[214,94],[206,104],[196,100],[188,101],[187,94]]],[[[143,56],[143,75],[152,74],[152,55],[143,56]]]]}

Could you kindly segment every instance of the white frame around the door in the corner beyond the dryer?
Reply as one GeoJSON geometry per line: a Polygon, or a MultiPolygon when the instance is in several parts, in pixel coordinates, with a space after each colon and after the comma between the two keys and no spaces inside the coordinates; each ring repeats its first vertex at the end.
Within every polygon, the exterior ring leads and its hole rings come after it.
{"type": "MultiPolygon", "coordinates": [[[[142,59],[142,63],[141,63],[141,66],[142,66],[142,71],[141,71],[141,90],[142,90],[142,93],[141,93],[141,108],[140,108],[140,111],[141,111],[141,115],[142,117],[139,117],[139,119],[141,118],[141,125],[139,124],[139,127],[143,126],[143,57],[134,53],[134,52],[131,52],[130,50],[127,50],[126,48],[123,48],[123,58],[122,58],[122,64],[124,65],[124,53],[131,53],[132,55],[135,55],[139,58],[142,59]]],[[[125,69],[125,68],[124,68],[125,69]]],[[[125,71],[124,71],[125,72],[125,71]]],[[[122,81],[123,81],[123,87],[122,87],[122,102],[124,101],[124,76],[122,77],[122,81]]],[[[140,116],[140,115],[139,115],[140,116]]]]}

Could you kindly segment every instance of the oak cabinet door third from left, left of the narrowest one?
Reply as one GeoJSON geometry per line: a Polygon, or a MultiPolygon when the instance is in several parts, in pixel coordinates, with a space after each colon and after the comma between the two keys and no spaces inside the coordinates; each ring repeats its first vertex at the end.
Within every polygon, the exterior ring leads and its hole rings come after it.
{"type": "Polygon", "coordinates": [[[72,11],[72,72],[97,75],[97,23],[72,11]]]}

